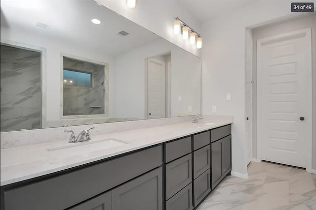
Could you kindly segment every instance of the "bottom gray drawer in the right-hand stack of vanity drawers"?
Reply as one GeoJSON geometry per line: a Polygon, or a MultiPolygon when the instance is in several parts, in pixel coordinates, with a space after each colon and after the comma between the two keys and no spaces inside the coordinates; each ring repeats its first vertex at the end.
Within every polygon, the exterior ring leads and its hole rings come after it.
{"type": "Polygon", "coordinates": [[[194,180],[194,206],[196,207],[211,191],[211,172],[208,169],[194,180]]]}

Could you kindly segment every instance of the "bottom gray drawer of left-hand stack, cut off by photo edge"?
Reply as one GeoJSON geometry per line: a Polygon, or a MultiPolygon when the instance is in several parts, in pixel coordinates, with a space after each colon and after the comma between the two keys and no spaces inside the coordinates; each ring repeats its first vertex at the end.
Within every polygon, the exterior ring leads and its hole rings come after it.
{"type": "Polygon", "coordinates": [[[166,210],[192,210],[192,184],[166,201],[166,210]]]}

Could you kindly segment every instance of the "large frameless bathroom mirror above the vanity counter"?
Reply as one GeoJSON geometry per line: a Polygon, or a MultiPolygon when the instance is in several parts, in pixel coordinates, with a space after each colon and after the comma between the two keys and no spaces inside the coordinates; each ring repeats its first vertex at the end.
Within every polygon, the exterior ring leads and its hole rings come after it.
{"type": "Polygon", "coordinates": [[[201,113],[201,60],[92,0],[1,0],[1,132],[201,113]]]}

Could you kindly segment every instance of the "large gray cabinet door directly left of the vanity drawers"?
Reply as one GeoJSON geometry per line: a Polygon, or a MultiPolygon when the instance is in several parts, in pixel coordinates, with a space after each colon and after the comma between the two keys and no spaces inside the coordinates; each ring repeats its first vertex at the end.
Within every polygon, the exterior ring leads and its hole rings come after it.
{"type": "Polygon", "coordinates": [[[112,190],[112,210],[162,210],[162,202],[161,167],[112,190]]]}

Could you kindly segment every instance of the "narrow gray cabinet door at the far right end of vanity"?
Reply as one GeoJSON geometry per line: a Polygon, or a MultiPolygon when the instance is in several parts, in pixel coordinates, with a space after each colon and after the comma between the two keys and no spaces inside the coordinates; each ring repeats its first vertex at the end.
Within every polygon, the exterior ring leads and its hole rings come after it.
{"type": "Polygon", "coordinates": [[[222,139],[222,172],[226,176],[232,170],[232,135],[222,139]]]}

